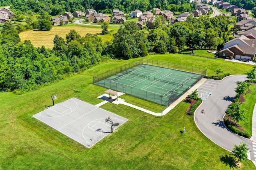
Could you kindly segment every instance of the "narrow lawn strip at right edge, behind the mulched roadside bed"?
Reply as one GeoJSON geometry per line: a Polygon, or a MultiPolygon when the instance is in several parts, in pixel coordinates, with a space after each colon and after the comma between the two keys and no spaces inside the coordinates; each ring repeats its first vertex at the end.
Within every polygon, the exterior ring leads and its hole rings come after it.
{"type": "Polygon", "coordinates": [[[247,120],[241,121],[239,124],[252,136],[252,113],[256,102],[256,86],[250,86],[250,90],[252,92],[244,95],[246,102],[242,104],[247,120]]]}

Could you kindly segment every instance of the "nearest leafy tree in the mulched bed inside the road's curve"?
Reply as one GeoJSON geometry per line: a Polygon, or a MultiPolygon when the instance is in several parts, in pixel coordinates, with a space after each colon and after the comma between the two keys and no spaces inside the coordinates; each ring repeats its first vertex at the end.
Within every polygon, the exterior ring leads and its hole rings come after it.
{"type": "Polygon", "coordinates": [[[242,103],[236,102],[230,104],[227,113],[229,113],[232,120],[235,122],[239,122],[241,120],[246,121],[246,117],[244,115],[245,111],[241,108],[242,103]]]}

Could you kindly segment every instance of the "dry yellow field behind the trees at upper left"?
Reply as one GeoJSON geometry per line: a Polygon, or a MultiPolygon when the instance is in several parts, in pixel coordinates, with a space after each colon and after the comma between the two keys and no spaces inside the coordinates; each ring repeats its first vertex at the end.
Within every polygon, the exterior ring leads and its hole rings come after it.
{"type": "MultiPolygon", "coordinates": [[[[52,27],[50,31],[38,31],[38,30],[29,30],[21,32],[20,39],[23,42],[24,40],[30,40],[34,47],[42,47],[44,45],[46,48],[51,48],[54,46],[53,39],[55,35],[59,35],[66,40],[66,34],[70,32],[71,29],[74,29],[78,32],[79,35],[84,36],[87,33],[96,34],[101,33],[101,27],[81,27],[81,26],[68,26],[68,27],[52,27]]],[[[102,37],[103,41],[109,41],[111,35],[99,35],[102,37]]]]}

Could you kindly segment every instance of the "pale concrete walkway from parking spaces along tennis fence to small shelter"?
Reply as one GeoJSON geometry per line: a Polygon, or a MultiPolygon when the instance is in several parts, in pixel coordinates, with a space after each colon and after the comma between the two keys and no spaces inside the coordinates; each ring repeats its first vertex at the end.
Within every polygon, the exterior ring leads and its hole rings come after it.
{"type": "MultiPolygon", "coordinates": [[[[173,109],[176,105],[178,105],[180,102],[182,102],[182,100],[184,100],[186,98],[186,96],[188,96],[188,94],[191,94],[192,91],[196,90],[198,87],[200,87],[207,79],[206,78],[202,78],[200,81],[198,81],[192,88],[190,88],[186,93],[184,93],[180,98],[178,98],[175,102],[173,102],[169,107],[167,107],[166,109],[163,110],[163,113],[155,113],[153,111],[144,109],[142,107],[138,107],[136,105],[133,104],[129,104],[127,102],[124,102],[124,99],[119,98],[120,96],[118,96],[118,100],[113,100],[114,98],[117,98],[117,96],[110,96],[109,94],[102,94],[101,96],[98,96],[98,98],[104,100],[103,102],[95,105],[97,107],[102,106],[103,104],[106,104],[107,102],[111,102],[113,104],[123,104],[126,106],[130,106],[133,107],[135,109],[138,109],[140,111],[144,111],[146,113],[149,113],[151,115],[155,115],[155,116],[161,116],[161,115],[166,115],[171,109],[173,109]],[[111,97],[111,98],[109,98],[111,97]]],[[[124,94],[124,93],[123,93],[124,94]]]]}

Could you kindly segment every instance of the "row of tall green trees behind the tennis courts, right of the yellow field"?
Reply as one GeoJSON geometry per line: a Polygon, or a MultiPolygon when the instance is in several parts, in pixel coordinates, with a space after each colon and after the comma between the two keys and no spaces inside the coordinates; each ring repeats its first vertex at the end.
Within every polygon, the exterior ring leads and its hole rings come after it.
{"type": "Polygon", "coordinates": [[[229,36],[230,23],[232,21],[226,16],[190,16],[186,22],[166,25],[163,18],[158,17],[153,29],[148,29],[145,34],[135,22],[126,22],[114,34],[113,41],[106,43],[104,55],[130,59],[146,56],[148,52],[179,53],[185,46],[192,50],[221,48],[223,43],[233,38],[229,36]]]}

